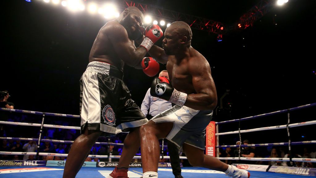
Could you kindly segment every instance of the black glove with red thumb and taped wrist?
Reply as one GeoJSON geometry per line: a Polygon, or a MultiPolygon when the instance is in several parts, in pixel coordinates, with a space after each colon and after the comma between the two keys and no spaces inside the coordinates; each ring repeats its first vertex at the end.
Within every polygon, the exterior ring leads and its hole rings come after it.
{"type": "Polygon", "coordinates": [[[169,80],[166,77],[156,77],[151,84],[150,95],[158,97],[174,103],[179,106],[185,104],[188,94],[179,92],[169,84],[169,80]]]}

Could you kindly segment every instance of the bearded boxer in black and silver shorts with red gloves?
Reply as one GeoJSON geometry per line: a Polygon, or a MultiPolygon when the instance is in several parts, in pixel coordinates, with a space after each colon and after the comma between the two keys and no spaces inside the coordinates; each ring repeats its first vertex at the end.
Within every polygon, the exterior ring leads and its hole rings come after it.
{"type": "Polygon", "coordinates": [[[98,137],[129,131],[119,164],[108,176],[128,178],[129,164],[140,145],[139,126],[148,120],[122,80],[123,67],[127,64],[143,69],[146,74],[158,73],[159,64],[143,57],[163,35],[158,25],[150,25],[144,31],[142,24],[143,13],[129,7],[100,29],[80,80],[81,135],[70,149],[64,178],[76,176],[98,137]],[[135,47],[134,40],[138,40],[140,47],[135,47]]]}

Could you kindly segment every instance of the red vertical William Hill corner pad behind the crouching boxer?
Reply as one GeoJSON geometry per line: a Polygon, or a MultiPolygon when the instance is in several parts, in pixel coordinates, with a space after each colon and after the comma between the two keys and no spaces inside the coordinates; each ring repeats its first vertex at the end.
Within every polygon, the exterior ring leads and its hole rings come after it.
{"type": "Polygon", "coordinates": [[[216,132],[215,122],[211,121],[210,124],[206,127],[206,155],[214,156],[215,155],[215,145],[216,145],[216,132]]]}

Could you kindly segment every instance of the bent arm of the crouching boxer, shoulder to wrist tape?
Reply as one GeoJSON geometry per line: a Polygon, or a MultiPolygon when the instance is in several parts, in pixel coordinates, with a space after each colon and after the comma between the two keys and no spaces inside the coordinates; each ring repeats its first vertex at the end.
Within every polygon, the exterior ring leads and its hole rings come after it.
{"type": "Polygon", "coordinates": [[[209,63],[205,59],[191,59],[188,70],[197,93],[188,95],[185,106],[196,110],[214,110],[217,105],[217,94],[209,63]]]}

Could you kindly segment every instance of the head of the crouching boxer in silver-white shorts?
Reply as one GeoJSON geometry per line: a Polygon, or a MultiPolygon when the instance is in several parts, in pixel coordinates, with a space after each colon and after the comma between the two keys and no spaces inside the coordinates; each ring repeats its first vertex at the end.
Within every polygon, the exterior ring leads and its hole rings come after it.
{"type": "Polygon", "coordinates": [[[173,22],[167,27],[162,47],[167,55],[175,55],[180,49],[191,46],[192,31],[185,22],[173,22]]]}

